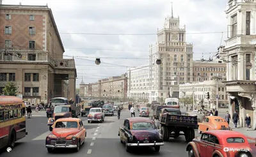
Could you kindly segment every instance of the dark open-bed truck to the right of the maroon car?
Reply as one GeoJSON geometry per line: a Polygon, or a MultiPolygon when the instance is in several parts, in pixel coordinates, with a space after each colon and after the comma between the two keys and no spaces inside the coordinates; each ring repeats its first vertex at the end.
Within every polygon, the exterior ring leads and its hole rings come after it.
{"type": "Polygon", "coordinates": [[[191,142],[195,138],[195,129],[198,128],[197,116],[164,113],[159,117],[159,123],[164,141],[168,141],[170,137],[177,138],[184,135],[186,142],[191,142]]]}

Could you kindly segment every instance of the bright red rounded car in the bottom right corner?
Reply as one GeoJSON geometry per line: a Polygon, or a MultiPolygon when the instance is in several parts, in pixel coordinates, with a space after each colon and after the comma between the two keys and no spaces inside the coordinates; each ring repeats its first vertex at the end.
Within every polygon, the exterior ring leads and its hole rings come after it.
{"type": "Polygon", "coordinates": [[[188,143],[186,151],[189,157],[253,157],[247,137],[230,130],[205,131],[188,143]]]}

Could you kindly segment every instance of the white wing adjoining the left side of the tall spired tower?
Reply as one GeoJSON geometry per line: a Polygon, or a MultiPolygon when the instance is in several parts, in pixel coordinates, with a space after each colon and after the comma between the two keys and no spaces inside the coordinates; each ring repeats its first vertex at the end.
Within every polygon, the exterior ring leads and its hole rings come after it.
{"type": "Polygon", "coordinates": [[[130,68],[127,73],[127,96],[138,103],[157,100],[157,93],[150,91],[150,68],[148,65],[130,68]]]}

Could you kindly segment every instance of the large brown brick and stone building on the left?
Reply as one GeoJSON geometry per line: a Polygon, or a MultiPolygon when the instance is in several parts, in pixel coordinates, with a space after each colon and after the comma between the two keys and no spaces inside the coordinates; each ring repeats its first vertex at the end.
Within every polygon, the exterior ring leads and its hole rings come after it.
{"type": "Polygon", "coordinates": [[[48,6],[0,4],[0,29],[1,90],[12,81],[24,100],[46,103],[63,96],[68,80],[68,96],[75,98],[75,61],[63,59],[65,50],[48,6]]]}

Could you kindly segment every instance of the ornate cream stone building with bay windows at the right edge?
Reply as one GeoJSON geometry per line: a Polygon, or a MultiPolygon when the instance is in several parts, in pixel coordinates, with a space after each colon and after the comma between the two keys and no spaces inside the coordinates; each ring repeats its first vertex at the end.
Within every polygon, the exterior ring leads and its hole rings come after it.
{"type": "Polygon", "coordinates": [[[244,118],[249,114],[253,129],[256,128],[255,5],[255,0],[228,1],[225,11],[228,38],[225,56],[221,56],[228,69],[225,84],[231,98],[230,113],[239,112],[241,126],[245,126],[244,118]]]}

